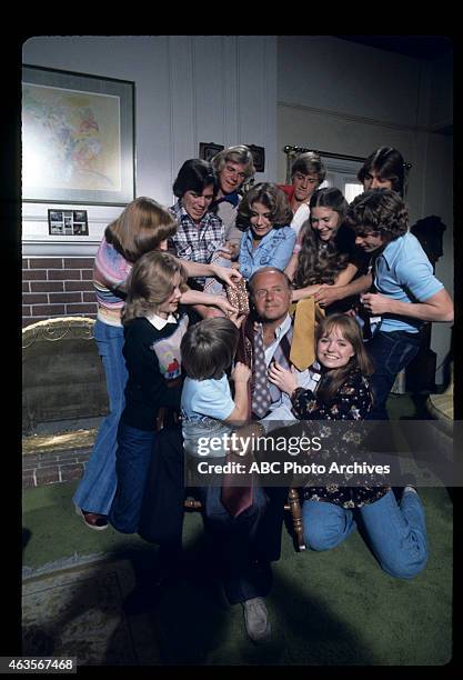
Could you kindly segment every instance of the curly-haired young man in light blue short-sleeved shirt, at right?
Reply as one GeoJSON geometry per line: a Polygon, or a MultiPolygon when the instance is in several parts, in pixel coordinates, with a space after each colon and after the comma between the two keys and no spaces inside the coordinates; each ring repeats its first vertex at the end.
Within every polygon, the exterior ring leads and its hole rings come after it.
{"type": "MultiPolygon", "coordinates": [[[[391,189],[373,189],[350,206],[348,223],[355,243],[372,256],[371,281],[376,292],[362,294],[366,311],[381,317],[368,342],[374,363],[371,420],[386,420],[385,402],[397,373],[416,356],[424,321],[453,321],[453,302],[419,240],[409,232],[402,198],[391,189]]],[[[366,290],[366,288],[364,288],[366,290]]]]}

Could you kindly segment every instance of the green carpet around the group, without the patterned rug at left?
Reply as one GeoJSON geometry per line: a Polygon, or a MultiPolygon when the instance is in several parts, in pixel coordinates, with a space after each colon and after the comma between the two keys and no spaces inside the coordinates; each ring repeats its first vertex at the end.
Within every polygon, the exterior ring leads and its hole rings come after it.
{"type": "MultiPolygon", "coordinates": [[[[27,576],[95,556],[127,558],[134,569],[152,560],[155,549],[138,537],[112,528],[88,530],[73,513],[74,489],[76,483],[62,483],[24,491],[27,576]]],[[[161,650],[158,662],[190,664],[446,663],[452,653],[452,502],[445,489],[422,489],[421,496],[430,558],[416,579],[401,581],[383,573],[358,533],[325,553],[296,553],[284,531],[268,598],[271,643],[250,642],[241,608],[227,608],[192,572],[143,624],[147,653],[139,650],[141,663],[152,659],[154,648],[161,650]]],[[[189,513],[184,544],[192,564],[202,536],[199,513],[189,513]]]]}

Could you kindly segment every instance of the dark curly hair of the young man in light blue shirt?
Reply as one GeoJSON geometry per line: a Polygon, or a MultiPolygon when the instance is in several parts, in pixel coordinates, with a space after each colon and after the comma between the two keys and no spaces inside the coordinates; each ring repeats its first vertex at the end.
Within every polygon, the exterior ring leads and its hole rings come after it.
{"type": "Polygon", "coordinates": [[[374,231],[390,242],[406,233],[409,212],[392,189],[371,189],[354,198],[345,221],[356,236],[374,231]]]}

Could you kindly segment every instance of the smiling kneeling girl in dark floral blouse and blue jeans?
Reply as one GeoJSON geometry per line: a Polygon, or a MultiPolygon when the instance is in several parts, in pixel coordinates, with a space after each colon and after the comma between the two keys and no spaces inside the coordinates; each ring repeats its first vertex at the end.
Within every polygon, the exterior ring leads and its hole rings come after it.
{"type": "MultiPolygon", "coordinates": [[[[373,369],[355,319],[345,314],[326,317],[316,328],[316,358],[312,367],[314,390],[299,388],[295,373],[278,364],[269,369],[269,379],[290,396],[299,420],[363,420],[372,406],[369,377],[373,369]]],[[[333,453],[351,462],[342,447],[333,453]]],[[[423,506],[413,487],[404,488],[397,504],[391,488],[378,484],[378,477],[366,477],[364,486],[305,487],[305,542],[312,550],[334,548],[361,518],[384,571],[413,578],[427,557],[423,506]]]]}

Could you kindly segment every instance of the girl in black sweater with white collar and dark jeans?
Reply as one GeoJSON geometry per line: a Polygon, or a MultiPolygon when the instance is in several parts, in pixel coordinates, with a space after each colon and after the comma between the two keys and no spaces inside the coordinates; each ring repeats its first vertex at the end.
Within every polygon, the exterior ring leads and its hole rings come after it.
{"type": "Polygon", "coordinates": [[[160,251],[140,258],[129,278],[122,312],[129,378],[118,429],[118,487],[109,513],[109,521],[122,533],[139,527],[159,410],[180,409],[180,343],[188,316],[178,308],[184,283],[180,261],[160,251]]]}

